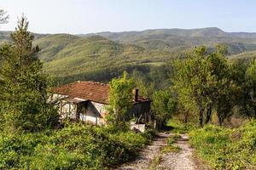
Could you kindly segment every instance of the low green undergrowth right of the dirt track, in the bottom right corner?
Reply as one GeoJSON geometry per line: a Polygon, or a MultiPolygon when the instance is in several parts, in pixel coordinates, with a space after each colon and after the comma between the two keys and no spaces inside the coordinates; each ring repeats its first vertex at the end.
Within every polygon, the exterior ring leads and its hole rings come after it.
{"type": "Polygon", "coordinates": [[[191,133],[190,142],[214,169],[254,169],[256,167],[256,124],[238,129],[206,126],[191,133]]]}

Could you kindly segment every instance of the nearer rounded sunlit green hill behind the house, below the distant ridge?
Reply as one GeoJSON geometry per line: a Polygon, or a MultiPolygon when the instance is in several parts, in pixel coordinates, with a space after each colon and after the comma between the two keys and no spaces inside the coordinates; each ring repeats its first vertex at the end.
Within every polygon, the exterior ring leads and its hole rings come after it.
{"type": "Polygon", "coordinates": [[[170,52],[148,51],[100,36],[48,35],[34,44],[41,48],[38,58],[44,61],[44,70],[61,78],[61,82],[108,81],[124,70],[145,71],[172,58],[170,52]]]}

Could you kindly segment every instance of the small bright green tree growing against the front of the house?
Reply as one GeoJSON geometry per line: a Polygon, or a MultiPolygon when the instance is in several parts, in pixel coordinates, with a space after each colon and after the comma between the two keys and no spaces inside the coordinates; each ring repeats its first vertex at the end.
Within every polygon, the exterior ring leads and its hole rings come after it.
{"type": "Polygon", "coordinates": [[[132,107],[134,82],[128,78],[127,72],[124,71],[123,77],[113,78],[110,82],[108,121],[113,124],[125,122],[127,112],[132,107]]]}

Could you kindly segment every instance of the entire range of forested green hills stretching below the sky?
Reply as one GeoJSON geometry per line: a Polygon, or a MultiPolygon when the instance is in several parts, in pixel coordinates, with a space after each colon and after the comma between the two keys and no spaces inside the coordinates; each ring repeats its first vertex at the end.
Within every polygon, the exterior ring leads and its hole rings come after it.
{"type": "MultiPolygon", "coordinates": [[[[1,31],[0,42],[8,42],[9,33],[1,31]]],[[[44,70],[61,82],[104,82],[124,70],[151,74],[152,69],[198,45],[224,44],[232,59],[250,58],[256,51],[256,33],[230,33],[214,27],[34,36],[34,44],[41,48],[38,58],[44,61],[44,70]]]]}

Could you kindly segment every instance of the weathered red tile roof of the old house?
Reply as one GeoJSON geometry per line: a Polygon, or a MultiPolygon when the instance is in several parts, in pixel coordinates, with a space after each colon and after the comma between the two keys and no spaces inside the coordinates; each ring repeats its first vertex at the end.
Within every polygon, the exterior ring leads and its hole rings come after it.
{"type": "MultiPolygon", "coordinates": [[[[108,104],[109,85],[101,82],[73,82],[62,85],[54,90],[55,94],[67,95],[72,98],[88,99],[102,104],[108,104]]],[[[145,99],[141,96],[138,101],[147,102],[150,99],[145,99]]]]}

